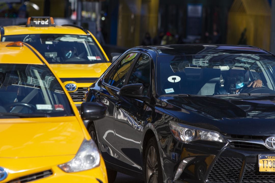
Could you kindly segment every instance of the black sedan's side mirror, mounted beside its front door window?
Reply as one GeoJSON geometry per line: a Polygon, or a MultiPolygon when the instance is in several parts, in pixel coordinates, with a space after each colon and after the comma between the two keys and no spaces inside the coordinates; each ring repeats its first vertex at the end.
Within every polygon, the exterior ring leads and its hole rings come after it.
{"type": "Polygon", "coordinates": [[[122,88],[120,89],[120,95],[130,98],[141,99],[143,98],[143,90],[144,87],[141,83],[125,85],[122,86],[122,88]]]}

